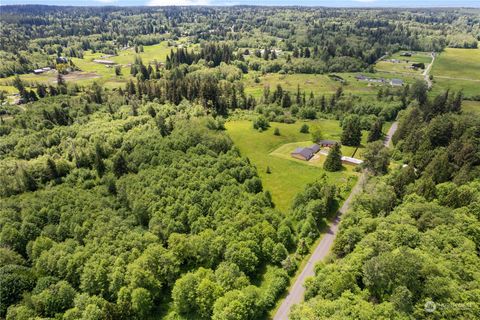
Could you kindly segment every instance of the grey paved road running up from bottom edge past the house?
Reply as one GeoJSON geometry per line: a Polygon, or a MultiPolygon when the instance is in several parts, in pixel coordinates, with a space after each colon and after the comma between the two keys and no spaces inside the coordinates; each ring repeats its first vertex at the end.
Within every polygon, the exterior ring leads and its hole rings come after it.
{"type": "MultiPolygon", "coordinates": [[[[398,122],[394,122],[388,130],[388,133],[384,140],[384,145],[386,147],[390,145],[392,136],[395,131],[397,131],[397,128],[398,122]]],[[[290,309],[292,308],[292,306],[303,301],[303,296],[305,295],[305,287],[303,286],[303,284],[305,283],[305,280],[315,275],[315,264],[319,261],[322,261],[330,253],[333,241],[337,236],[338,226],[340,224],[340,217],[342,214],[348,211],[355,195],[362,191],[366,179],[367,175],[365,172],[363,172],[355,186],[352,188],[352,191],[350,192],[347,200],[345,200],[342,207],[338,210],[337,216],[333,220],[332,224],[329,226],[327,232],[323,235],[320,243],[317,245],[312,255],[308,259],[307,264],[303,268],[302,272],[299,274],[298,278],[295,280],[295,283],[290,288],[287,297],[285,298],[285,300],[283,300],[282,304],[278,308],[275,316],[273,317],[273,320],[287,320],[288,314],[290,313],[290,309]]]]}

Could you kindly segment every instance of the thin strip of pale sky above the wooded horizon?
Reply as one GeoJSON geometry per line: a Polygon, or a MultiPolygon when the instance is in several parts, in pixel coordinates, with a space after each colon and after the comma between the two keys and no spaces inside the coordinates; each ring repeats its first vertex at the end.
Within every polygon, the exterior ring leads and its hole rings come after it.
{"type": "Polygon", "coordinates": [[[480,0],[0,0],[0,4],[48,4],[59,6],[228,6],[244,4],[325,7],[480,7],[480,0]]]}

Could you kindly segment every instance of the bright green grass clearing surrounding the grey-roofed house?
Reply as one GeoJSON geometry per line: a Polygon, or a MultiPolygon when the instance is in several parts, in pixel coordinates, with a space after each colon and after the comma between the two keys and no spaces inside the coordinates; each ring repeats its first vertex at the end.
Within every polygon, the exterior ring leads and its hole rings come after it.
{"type": "MultiPolygon", "coordinates": [[[[288,143],[311,144],[310,134],[300,133],[303,123],[307,123],[310,128],[318,126],[325,138],[339,137],[341,133],[339,123],[335,120],[299,121],[294,124],[271,123],[271,127],[264,132],[253,129],[252,122],[248,120],[230,121],[225,125],[228,134],[242,155],[248,157],[257,167],[264,188],[272,193],[276,207],[284,212],[290,208],[297,193],[323,174],[327,175],[329,182],[340,188],[344,196],[348,194],[358,176],[353,172],[351,166],[345,166],[341,172],[327,173],[319,164],[314,165],[305,161],[272,155],[272,152],[288,143]],[[273,134],[274,128],[280,130],[280,136],[273,134]],[[270,168],[270,174],[266,173],[267,167],[270,168]]],[[[295,144],[291,147],[295,149],[295,144]]]]}

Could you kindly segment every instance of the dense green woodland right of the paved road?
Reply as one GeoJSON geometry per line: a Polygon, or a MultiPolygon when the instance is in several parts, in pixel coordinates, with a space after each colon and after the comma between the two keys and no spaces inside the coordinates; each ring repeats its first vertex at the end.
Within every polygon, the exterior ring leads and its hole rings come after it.
{"type": "Polygon", "coordinates": [[[478,317],[480,123],[454,101],[403,112],[393,156],[407,165],[357,197],[292,319],[478,317]]]}

